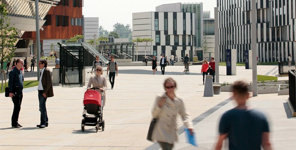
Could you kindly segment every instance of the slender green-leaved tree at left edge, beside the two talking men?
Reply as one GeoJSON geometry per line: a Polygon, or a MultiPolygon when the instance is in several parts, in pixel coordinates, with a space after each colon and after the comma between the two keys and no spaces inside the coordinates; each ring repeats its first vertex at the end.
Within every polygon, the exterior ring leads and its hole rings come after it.
{"type": "MultiPolygon", "coordinates": [[[[1,62],[1,71],[4,71],[4,61],[11,60],[14,56],[15,44],[17,41],[17,29],[10,26],[10,19],[6,16],[7,10],[5,4],[0,5],[0,62],[1,62]]],[[[2,72],[2,90],[3,90],[3,75],[5,71],[2,72]]],[[[6,83],[6,80],[5,80],[6,83]]]]}

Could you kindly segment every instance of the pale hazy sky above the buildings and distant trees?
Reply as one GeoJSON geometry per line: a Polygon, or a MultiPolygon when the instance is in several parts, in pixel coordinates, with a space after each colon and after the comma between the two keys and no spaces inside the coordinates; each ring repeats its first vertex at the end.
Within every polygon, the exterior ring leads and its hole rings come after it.
{"type": "Polygon", "coordinates": [[[203,2],[203,11],[211,11],[211,18],[214,18],[216,0],[84,0],[82,13],[84,17],[99,17],[99,25],[112,31],[117,22],[132,27],[134,12],[155,12],[156,6],[176,2],[203,2]]]}

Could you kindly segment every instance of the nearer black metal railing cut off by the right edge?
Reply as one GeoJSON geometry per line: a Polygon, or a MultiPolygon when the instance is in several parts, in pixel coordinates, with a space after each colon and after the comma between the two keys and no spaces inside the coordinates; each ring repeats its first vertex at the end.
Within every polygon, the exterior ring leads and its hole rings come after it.
{"type": "Polygon", "coordinates": [[[295,70],[289,70],[289,100],[296,112],[296,80],[295,80],[295,70]]]}

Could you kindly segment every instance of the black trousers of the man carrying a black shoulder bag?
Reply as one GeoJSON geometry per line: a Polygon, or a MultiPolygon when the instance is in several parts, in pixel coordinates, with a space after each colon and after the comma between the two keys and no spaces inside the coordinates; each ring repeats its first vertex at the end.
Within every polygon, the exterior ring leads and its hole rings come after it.
{"type": "Polygon", "coordinates": [[[23,99],[23,94],[20,92],[20,96],[13,96],[12,102],[14,104],[13,113],[11,117],[11,126],[15,126],[18,123],[18,116],[21,111],[21,100],[23,99]]]}

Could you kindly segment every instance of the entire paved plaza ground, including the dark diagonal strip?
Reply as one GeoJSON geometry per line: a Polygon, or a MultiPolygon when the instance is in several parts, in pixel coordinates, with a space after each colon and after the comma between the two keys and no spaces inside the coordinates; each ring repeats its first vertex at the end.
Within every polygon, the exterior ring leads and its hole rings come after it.
{"type": "MultiPolygon", "coordinates": [[[[258,75],[272,75],[277,65],[258,66],[258,75]]],[[[184,75],[183,66],[167,66],[165,75],[160,67],[152,75],[151,66],[118,67],[114,89],[108,82],[106,106],[103,110],[105,131],[95,132],[86,126],[81,132],[83,97],[86,86],[54,86],[54,97],[47,99],[49,126],[36,128],[40,123],[37,87],[24,89],[19,123],[21,129],[11,127],[13,103],[0,94],[0,149],[7,150],[157,150],[157,143],[146,140],[151,119],[151,107],[155,96],[164,92],[165,78],[177,81],[177,94],[184,98],[191,115],[199,148],[186,143],[184,127],[178,118],[179,142],[174,149],[214,149],[218,136],[218,123],[222,113],[235,106],[230,92],[214,97],[203,97],[201,65],[190,66],[190,74],[184,75]]],[[[220,83],[245,80],[250,83],[252,70],[237,66],[237,75],[226,76],[226,66],[220,66],[220,83]]],[[[27,73],[27,72],[26,72],[27,73]]],[[[35,72],[36,74],[36,72],[35,72]]],[[[36,80],[29,72],[25,80],[36,80]]],[[[279,77],[288,80],[288,77],[279,77]]],[[[262,110],[270,123],[270,141],[276,150],[292,150],[296,147],[296,118],[291,116],[287,104],[288,95],[259,94],[251,97],[249,104],[262,110]]],[[[227,142],[224,144],[227,148],[227,142]]]]}

